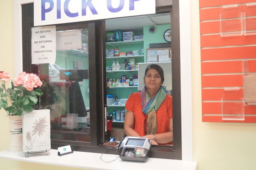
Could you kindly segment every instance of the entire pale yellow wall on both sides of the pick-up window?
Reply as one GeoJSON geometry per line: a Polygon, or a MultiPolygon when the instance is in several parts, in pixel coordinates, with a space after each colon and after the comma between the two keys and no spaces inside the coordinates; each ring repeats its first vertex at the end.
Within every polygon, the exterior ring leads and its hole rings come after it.
{"type": "MultiPolygon", "coordinates": [[[[4,3],[3,3],[4,2],[4,3]]],[[[14,74],[13,1],[0,5],[0,71],[14,74]]],[[[182,12],[182,11],[181,11],[182,12]]],[[[198,170],[255,170],[255,123],[203,123],[201,121],[201,77],[198,0],[191,0],[192,78],[193,78],[193,160],[198,170]]],[[[0,151],[8,149],[8,118],[0,110],[0,151]]],[[[71,170],[50,165],[0,159],[4,170],[71,170]]]]}

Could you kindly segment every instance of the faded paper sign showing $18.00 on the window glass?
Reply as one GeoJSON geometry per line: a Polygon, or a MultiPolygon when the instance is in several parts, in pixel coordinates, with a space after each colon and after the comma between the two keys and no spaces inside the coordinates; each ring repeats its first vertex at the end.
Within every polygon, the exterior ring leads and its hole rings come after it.
{"type": "Polygon", "coordinates": [[[69,50],[81,48],[81,30],[56,32],[56,50],[69,50]]]}

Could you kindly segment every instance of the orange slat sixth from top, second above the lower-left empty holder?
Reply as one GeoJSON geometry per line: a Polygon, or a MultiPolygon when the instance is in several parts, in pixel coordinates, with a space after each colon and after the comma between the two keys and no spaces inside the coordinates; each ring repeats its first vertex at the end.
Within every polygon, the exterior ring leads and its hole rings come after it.
{"type": "Polygon", "coordinates": [[[241,61],[228,62],[203,62],[201,63],[202,74],[216,74],[216,73],[242,73],[241,61]]]}

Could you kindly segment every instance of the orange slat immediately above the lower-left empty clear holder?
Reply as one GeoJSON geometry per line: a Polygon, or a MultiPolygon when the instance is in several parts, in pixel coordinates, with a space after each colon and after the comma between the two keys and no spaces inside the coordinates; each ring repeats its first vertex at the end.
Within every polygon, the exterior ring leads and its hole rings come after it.
{"type": "Polygon", "coordinates": [[[201,76],[202,87],[242,87],[242,75],[201,76]]]}

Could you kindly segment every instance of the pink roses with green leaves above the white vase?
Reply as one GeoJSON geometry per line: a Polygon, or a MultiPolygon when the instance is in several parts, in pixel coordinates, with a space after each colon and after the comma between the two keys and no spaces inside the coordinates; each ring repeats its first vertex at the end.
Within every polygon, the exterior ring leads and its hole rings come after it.
{"type": "Polygon", "coordinates": [[[21,72],[11,81],[11,88],[6,88],[10,81],[10,74],[0,71],[0,109],[3,108],[8,115],[21,116],[23,111],[31,112],[33,105],[37,104],[37,96],[43,93],[36,89],[42,81],[36,74],[21,72]]]}

